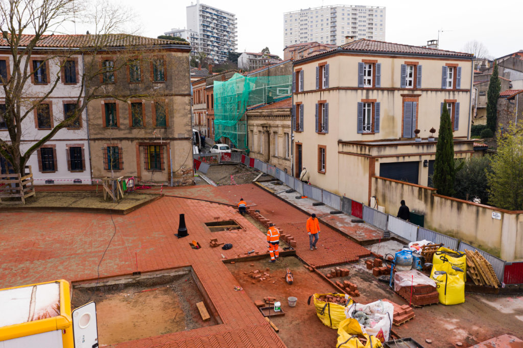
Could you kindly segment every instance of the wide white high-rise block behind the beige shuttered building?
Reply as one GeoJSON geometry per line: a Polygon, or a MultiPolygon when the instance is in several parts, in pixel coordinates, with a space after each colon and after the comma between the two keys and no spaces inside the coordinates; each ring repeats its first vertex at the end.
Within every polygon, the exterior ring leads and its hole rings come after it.
{"type": "Polygon", "coordinates": [[[283,14],[285,47],[317,41],[341,45],[346,36],[385,40],[385,7],[332,5],[283,14]]]}

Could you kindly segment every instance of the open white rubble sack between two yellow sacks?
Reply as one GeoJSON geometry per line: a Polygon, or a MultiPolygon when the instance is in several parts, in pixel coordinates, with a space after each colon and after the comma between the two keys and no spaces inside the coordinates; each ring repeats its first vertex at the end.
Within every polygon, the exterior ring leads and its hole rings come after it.
{"type": "Polygon", "coordinates": [[[366,333],[385,342],[389,340],[393,313],[394,306],[386,301],[378,300],[366,305],[353,303],[345,309],[347,319],[353,319],[347,328],[359,326],[359,330],[350,332],[366,333]]]}

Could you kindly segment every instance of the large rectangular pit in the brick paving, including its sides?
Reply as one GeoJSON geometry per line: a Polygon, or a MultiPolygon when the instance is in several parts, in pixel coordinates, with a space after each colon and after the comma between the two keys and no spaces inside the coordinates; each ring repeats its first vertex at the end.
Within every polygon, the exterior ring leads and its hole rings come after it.
{"type": "Polygon", "coordinates": [[[100,345],[222,323],[190,266],[73,282],[72,289],[73,309],[95,301],[100,345]],[[196,306],[201,301],[211,316],[206,321],[196,306]]]}

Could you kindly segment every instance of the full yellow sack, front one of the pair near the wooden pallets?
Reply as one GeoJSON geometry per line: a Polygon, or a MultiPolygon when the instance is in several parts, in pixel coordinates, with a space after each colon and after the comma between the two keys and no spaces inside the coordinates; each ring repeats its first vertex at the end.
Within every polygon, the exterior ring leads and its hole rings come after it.
{"type": "Polygon", "coordinates": [[[457,305],[465,301],[465,282],[463,272],[452,269],[452,264],[445,262],[432,266],[430,277],[436,281],[439,302],[444,305],[457,305]],[[443,274],[436,274],[443,271],[443,274]]]}

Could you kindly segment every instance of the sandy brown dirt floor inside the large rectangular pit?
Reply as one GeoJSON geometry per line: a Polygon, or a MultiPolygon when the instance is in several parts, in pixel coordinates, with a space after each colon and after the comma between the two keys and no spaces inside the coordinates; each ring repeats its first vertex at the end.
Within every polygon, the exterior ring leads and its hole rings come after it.
{"type": "Polygon", "coordinates": [[[100,346],[217,324],[202,321],[196,304],[203,297],[190,273],[166,284],[121,287],[73,291],[73,308],[96,303],[100,346]]]}

